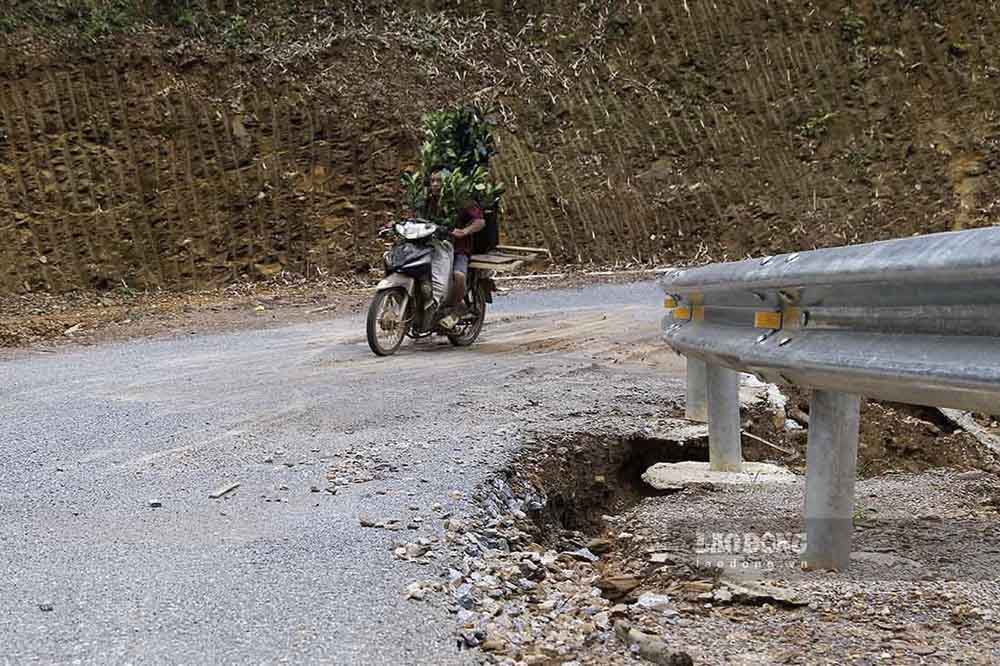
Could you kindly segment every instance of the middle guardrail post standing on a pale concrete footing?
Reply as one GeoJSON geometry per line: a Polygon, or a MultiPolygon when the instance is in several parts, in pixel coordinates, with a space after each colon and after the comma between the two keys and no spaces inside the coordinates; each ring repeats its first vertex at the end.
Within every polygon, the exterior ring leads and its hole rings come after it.
{"type": "Polygon", "coordinates": [[[743,471],[740,439],[740,376],[734,370],[708,365],[708,460],[717,472],[743,471]]]}

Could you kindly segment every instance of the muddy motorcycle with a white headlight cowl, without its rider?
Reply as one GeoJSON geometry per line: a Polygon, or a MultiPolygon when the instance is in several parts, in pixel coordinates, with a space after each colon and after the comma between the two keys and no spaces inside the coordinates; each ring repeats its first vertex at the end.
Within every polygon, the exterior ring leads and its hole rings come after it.
{"type": "MultiPolygon", "coordinates": [[[[431,261],[434,241],[447,243],[450,231],[419,218],[393,225],[396,242],[385,253],[385,277],[375,288],[368,307],[368,346],[378,356],[396,353],[404,338],[444,335],[456,347],[467,347],[483,330],[486,306],[493,302],[493,273],[469,267],[463,306],[456,317],[450,308],[435,311],[432,302],[431,261]],[[442,320],[455,320],[445,327],[442,320]]],[[[450,277],[450,275],[449,275],[450,277]]],[[[452,285],[453,286],[453,285],[452,285]]],[[[445,302],[450,302],[450,294],[445,302]]]]}

